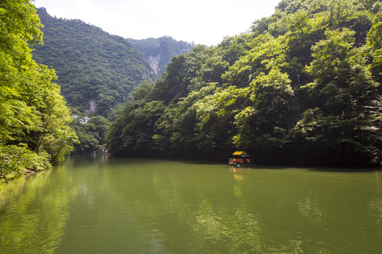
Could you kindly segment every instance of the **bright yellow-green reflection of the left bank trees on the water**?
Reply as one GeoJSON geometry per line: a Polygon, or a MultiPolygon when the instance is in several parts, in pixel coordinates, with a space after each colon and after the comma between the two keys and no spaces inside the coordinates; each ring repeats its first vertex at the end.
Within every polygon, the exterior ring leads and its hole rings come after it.
{"type": "Polygon", "coordinates": [[[0,193],[0,253],[54,253],[64,235],[69,202],[76,193],[67,188],[66,174],[52,170],[33,179],[18,179],[0,193]],[[52,181],[55,181],[52,183],[52,181]],[[62,184],[66,186],[62,189],[62,184]],[[8,200],[1,202],[1,200],[8,200]]]}

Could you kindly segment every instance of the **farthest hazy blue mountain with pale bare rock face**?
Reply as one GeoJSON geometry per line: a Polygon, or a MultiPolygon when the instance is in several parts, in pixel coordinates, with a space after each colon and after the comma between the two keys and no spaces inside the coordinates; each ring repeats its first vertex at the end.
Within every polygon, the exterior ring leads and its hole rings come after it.
{"type": "Polygon", "coordinates": [[[173,56],[188,53],[195,47],[192,43],[179,42],[168,36],[144,40],[127,39],[127,41],[144,54],[157,76],[166,70],[173,56]]]}

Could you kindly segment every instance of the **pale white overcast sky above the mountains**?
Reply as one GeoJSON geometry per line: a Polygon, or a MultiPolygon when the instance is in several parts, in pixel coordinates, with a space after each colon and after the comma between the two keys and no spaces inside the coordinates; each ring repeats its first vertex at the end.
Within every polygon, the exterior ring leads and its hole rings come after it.
{"type": "Polygon", "coordinates": [[[212,46],[271,16],[281,0],[35,0],[51,16],[80,19],[111,35],[164,35],[212,46]]]}

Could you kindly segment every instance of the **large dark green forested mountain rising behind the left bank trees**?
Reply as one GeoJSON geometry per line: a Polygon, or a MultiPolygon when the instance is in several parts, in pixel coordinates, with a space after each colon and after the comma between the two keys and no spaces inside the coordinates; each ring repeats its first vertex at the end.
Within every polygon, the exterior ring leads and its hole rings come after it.
{"type": "Polygon", "coordinates": [[[81,20],[53,18],[37,10],[44,44],[33,59],[56,70],[62,95],[76,113],[109,116],[143,80],[155,75],[144,56],[122,37],[81,20]]]}

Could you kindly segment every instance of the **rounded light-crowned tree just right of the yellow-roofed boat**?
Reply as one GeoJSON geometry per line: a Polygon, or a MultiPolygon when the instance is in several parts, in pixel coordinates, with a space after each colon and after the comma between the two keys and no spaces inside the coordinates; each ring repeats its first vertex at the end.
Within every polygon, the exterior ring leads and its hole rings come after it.
{"type": "MultiPolygon", "coordinates": [[[[296,122],[296,99],[287,73],[272,68],[251,83],[252,105],[236,115],[236,147],[255,152],[266,162],[287,159],[282,149],[291,143],[289,129],[296,122]]],[[[285,160],[284,160],[285,162],[285,160]]]]}

